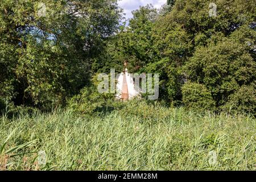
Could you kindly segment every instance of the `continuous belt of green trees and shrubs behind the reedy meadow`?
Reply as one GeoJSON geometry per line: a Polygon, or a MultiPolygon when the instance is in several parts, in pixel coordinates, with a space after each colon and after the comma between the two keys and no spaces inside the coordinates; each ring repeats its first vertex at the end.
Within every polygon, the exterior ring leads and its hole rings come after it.
{"type": "MultiPolygon", "coordinates": [[[[159,73],[159,100],[175,106],[187,97],[185,81],[203,85],[217,110],[255,81],[254,1],[214,1],[214,17],[207,0],[168,0],[161,10],[133,11],[129,26],[120,25],[116,0],[41,2],[45,16],[35,0],[0,5],[0,97],[15,106],[51,110],[75,96],[74,107],[81,100],[78,110],[92,113],[108,99],[88,87],[91,78],[123,71],[124,61],[129,72],[159,73]]],[[[209,107],[193,100],[189,107],[209,107]]],[[[246,103],[233,108],[252,112],[246,103]]]]}

